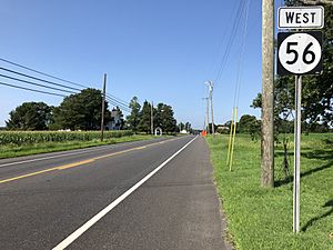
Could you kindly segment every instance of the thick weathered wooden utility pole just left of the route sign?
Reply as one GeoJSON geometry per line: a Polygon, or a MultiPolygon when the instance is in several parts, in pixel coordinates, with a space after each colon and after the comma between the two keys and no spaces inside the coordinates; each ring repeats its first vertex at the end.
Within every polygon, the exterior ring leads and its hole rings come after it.
{"type": "Polygon", "coordinates": [[[274,187],[274,0],[262,0],[261,184],[274,187]]]}

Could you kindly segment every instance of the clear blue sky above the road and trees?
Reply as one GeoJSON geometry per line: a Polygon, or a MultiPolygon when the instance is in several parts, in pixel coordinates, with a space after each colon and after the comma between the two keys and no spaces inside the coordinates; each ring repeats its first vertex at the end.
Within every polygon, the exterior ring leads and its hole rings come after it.
{"type": "MultiPolygon", "coordinates": [[[[216,77],[240,1],[2,0],[0,58],[100,89],[105,72],[109,93],[171,104],[178,121],[201,129],[203,82],[216,77]]],[[[261,91],[261,1],[251,0],[248,27],[239,110],[259,117],[250,104],[261,91]]],[[[240,31],[214,82],[215,123],[231,117],[240,31]]],[[[24,101],[58,106],[62,98],[0,86],[0,126],[24,101]]]]}

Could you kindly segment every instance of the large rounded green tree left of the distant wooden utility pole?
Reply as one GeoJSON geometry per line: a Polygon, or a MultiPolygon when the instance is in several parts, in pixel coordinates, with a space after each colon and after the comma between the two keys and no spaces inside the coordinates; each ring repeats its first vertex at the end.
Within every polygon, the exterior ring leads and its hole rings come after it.
{"type": "MultiPolygon", "coordinates": [[[[53,128],[71,130],[95,130],[101,127],[102,93],[97,89],[83,89],[80,93],[65,97],[54,109],[53,128]]],[[[105,102],[104,124],[110,120],[105,102]]]]}

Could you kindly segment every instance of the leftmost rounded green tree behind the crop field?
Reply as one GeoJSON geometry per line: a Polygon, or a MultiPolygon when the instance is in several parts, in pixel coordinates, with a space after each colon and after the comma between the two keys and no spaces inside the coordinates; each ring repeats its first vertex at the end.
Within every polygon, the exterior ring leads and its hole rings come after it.
{"type": "Polygon", "coordinates": [[[44,102],[24,102],[9,113],[6,127],[10,130],[47,130],[52,121],[52,109],[44,102]]]}

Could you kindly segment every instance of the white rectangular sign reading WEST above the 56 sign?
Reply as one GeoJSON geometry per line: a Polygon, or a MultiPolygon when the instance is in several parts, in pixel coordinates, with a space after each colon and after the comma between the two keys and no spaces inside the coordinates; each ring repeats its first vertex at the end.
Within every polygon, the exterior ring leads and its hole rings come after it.
{"type": "Polygon", "coordinates": [[[321,29],[324,27],[324,8],[280,7],[278,12],[279,29],[321,29]]]}

